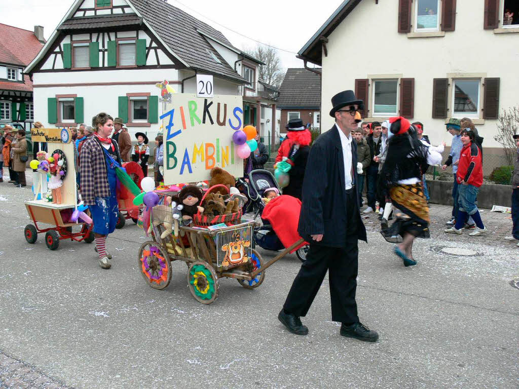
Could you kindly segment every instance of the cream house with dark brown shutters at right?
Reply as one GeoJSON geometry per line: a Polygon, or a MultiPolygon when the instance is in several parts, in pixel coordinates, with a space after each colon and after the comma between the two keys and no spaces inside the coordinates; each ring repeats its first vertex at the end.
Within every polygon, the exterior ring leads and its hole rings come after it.
{"type": "Polygon", "coordinates": [[[322,130],[333,124],[332,96],[353,89],[366,121],[404,116],[424,123],[433,144],[449,145],[448,118],[470,117],[485,155],[501,155],[499,113],[519,105],[519,19],[505,15],[517,8],[512,0],[345,0],[298,53],[322,66],[322,130]]]}

